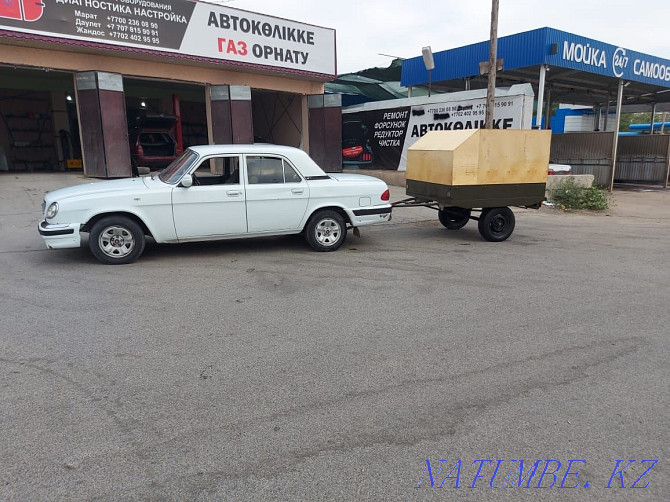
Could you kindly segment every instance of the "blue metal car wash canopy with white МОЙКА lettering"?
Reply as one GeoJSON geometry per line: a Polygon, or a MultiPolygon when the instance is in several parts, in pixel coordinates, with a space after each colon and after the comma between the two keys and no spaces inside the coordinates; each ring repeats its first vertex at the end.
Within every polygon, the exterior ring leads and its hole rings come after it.
{"type": "MultiPolygon", "coordinates": [[[[487,60],[487,54],[488,42],[436,53],[433,89],[485,88],[487,76],[480,75],[479,63],[487,60]]],[[[670,60],[553,28],[500,38],[498,57],[502,60],[498,85],[529,82],[536,95],[544,66],[545,92],[553,102],[605,105],[616,99],[619,80],[624,80],[623,105],[670,103],[670,60]]],[[[403,62],[401,83],[428,84],[421,56],[403,62]]]]}

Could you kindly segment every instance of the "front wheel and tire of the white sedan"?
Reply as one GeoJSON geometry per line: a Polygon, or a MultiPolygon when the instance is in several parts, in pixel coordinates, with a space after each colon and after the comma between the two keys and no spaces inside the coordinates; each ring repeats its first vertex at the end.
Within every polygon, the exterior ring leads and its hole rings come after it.
{"type": "Polygon", "coordinates": [[[127,216],[108,216],[93,225],[88,239],[91,253],[106,265],[132,263],[144,251],[144,231],[127,216]]]}

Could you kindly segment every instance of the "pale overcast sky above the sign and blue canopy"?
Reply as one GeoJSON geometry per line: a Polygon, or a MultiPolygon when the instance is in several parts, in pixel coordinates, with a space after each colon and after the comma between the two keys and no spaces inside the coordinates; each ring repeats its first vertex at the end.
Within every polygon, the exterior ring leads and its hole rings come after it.
{"type": "MultiPolygon", "coordinates": [[[[482,42],[491,27],[491,0],[207,1],[334,28],[340,74],[482,42]]],[[[670,60],[668,20],[670,0],[500,0],[498,36],[548,26],[670,60]]]]}

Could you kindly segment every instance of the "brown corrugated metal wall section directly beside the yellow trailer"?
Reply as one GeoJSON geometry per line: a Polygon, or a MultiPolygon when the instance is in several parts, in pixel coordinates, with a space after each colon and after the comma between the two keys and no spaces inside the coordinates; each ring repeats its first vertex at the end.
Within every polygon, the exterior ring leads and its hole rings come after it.
{"type": "Polygon", "coordinates": [[[554,134],[551,137],[551,161],[570,164],[573,174],[593,174],[597,185],[608,186],[612,173],[613,134],[554,134]]]}

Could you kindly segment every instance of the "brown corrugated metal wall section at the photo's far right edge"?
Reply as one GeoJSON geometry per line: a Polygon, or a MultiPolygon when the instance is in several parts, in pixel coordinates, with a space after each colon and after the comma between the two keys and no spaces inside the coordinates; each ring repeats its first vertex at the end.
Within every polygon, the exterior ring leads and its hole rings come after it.
{"type": "Polygon", "coordinates": [[[670,135],[620,137],[615,181],[664,183],[669,149],[670,135]]]}

